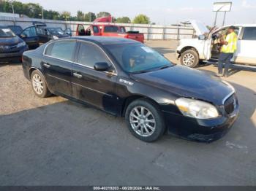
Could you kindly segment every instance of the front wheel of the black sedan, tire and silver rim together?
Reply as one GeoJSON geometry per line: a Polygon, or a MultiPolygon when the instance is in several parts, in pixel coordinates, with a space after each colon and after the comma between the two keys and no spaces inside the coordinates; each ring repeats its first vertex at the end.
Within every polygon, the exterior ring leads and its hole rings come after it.
{"type": "Polygon", "coordinates": [[[157,104],[147,99],[129,104],[125,118],[130,132],[142,141],[157,141],[165,132],[162,112],[157,104]]]}

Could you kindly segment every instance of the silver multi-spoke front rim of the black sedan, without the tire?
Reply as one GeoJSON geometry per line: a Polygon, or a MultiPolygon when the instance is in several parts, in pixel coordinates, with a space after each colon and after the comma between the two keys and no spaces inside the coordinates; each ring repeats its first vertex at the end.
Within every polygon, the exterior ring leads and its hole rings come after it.
{"type": "Polygon", "coordinates": [[[156,130],[156,120],[149,109],[144,106],[136,106],[132,109],[129,122],[139,136],[151,136],[156,130]]]}

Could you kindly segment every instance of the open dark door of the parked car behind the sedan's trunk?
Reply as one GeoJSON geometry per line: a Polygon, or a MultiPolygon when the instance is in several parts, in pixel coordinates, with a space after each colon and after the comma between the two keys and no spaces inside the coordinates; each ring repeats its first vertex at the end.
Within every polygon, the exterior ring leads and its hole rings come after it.
{"type": "Polygon", "coordinates": [[[25,28],[20,34],[20,38],[28,44],[29,49],[39,47],[39,37],[37,36],[37,30],[34,26],[25,28]]]}

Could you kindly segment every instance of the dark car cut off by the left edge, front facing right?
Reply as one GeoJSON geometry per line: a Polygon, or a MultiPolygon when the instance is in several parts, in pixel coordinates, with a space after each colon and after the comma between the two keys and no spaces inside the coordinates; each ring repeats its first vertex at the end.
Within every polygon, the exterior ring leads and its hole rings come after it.
{"type": "Polygon", "coordinates": [[[7,26],[0,26],[0,62],[20,62],[28,46],[7,26]]]}

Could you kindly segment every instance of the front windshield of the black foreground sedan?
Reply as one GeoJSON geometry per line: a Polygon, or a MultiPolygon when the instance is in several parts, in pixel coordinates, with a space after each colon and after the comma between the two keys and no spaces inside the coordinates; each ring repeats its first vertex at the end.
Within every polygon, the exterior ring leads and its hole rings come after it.
{"type": "Polygon", "coordinates": [[[146,72],[173,66],[165,57],[144,44],[110,44],[106,47],[124,71],[129,73],[146,72]]]}

